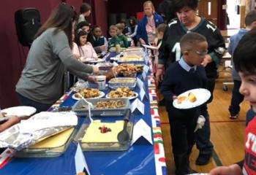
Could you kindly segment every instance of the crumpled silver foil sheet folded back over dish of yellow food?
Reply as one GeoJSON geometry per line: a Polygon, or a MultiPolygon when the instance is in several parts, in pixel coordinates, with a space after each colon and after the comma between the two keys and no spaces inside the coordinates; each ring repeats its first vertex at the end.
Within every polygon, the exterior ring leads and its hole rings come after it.
{"type": "Polygon", "coordinates": [[[21,150],[78,124],[74,112],[40,112],[0,133],[0,147],[21,150]]]}

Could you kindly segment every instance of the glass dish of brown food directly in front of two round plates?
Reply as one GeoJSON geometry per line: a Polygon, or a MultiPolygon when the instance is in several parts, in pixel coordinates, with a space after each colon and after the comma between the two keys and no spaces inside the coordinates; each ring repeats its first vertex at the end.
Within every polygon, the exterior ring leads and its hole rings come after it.
{"type": "MultiPolygon", "coordinates": [[[[101,117],[122,116],[129,109],[129,98],[98,98],[88,99],[94,107],[91,108],[91,114],[101,117]]],[[[79,100],[72,106],[72,110],[78,116],[89,114],[89,106],[86,101],[79,100]]]]}

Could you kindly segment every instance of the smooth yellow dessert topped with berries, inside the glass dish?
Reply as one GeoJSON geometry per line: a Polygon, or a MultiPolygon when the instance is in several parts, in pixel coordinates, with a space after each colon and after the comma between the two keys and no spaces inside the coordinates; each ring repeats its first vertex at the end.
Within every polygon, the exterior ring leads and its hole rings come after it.
{"type": "Polygon", "coordinates": [[[109,143],[117,142],[117,135],[124,128],[124,120],[118,120],[116,123],[102,123],[100,120],[94,120],[86,129],[82,143],[109,143]],[[102,129],[108,128],[108,132],[101,132],[102,129]]]}

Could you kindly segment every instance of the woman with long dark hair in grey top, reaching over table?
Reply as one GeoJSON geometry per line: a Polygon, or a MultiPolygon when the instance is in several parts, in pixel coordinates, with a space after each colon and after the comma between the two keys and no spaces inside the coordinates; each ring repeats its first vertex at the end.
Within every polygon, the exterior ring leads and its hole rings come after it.
{"type": "Polygon", "coordinates": [[[60,4],[39,28],[16,85],[20,105],[34,106],[37,112],[47,110],[63,93],[66,69],[81,79],[96,82],[89,74],[99,69],[81,63],[72,55],[75,20],[74,10],[67,4],[60,4]]]}

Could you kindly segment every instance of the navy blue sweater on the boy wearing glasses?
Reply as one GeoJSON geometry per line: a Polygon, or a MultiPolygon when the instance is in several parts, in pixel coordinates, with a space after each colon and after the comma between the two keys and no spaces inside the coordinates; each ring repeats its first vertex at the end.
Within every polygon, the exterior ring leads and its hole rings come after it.
{"type": "Polygon", "coordinates": [[[203,66],[197,66],[194,73],[184,70],[178,62],[175,62],[169,66],[161,87],[161,93],[165,98],[166,109],[167,112],[169,112],[169,117],[170,113],[176,113],[173,112],[174,110],[185,112],[184,114],[187,112],[191,113],[193,110],[195,110],[176,109],[173,107],[173,96],[178,96],[187,90],[192,90],[195,88],[206,88],[206,71],[203,66]]]}

